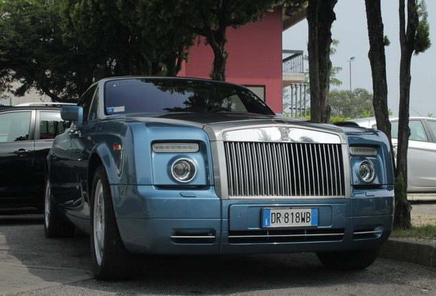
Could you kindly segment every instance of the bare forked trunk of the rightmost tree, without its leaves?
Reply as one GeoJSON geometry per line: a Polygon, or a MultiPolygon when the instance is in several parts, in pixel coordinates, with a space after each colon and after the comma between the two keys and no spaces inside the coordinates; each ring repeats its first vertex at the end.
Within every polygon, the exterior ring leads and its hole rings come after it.
{"type": "Polygon", "coordinates": [[[404,0],[399,0],[400,14],[400,108],[398,109],[398,149],[396,168],[396,203],[393,227],[411,227],[411,206],[407,201],[407,149],[409,148],[409,106],[411,85],[411,59],[415,49],[417,16],[416,0],[407,0],[407,28],[404,0]]]}

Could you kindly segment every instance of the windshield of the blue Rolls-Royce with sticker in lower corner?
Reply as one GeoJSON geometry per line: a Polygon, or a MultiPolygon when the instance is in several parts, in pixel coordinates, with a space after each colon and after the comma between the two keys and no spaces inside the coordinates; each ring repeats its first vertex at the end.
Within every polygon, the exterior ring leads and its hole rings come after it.
{"type": "Polygon", "coordinates": [[[119,79],[106,82],[106,114],[137,112],[274,112],[246,88],[208,80],[119,79]]]}

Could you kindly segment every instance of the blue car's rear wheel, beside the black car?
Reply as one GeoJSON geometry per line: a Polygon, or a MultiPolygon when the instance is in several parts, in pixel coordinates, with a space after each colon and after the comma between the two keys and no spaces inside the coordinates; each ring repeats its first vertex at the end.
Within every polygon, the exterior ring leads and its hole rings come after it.
{"type": "Polygon", "coordinates": [[[51,198],[50,180],[45,181],[44,193],[44,231],[48,238],[71,237],[74,235],[75,227],[73,224],[62,219],[56,204],[51,198]]]}

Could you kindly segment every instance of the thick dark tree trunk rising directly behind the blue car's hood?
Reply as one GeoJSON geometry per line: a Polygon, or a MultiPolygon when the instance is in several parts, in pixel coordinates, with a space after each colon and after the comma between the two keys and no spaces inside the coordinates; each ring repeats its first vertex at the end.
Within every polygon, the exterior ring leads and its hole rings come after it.
{"type": "Polygon", "coordinates": [[[311,121],[328,123],[330,106],[330,45],[332,44],[331,27],[336,20],[333,8],[337,0],[308,0],[308,64],[311,84],[311,121]]]}

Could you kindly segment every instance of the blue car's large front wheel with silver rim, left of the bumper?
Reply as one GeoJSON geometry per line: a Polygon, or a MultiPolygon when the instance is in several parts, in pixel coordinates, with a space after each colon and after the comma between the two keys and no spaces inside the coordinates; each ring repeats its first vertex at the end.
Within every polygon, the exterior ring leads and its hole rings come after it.
{"type": "Polygon", "coordinates": [[[90,247],[95,277],[100,280],[130,279],[141,267],[141,260],[123,245],[108,178],[101,166],[94,174],[90,210],[90,247]]]}

